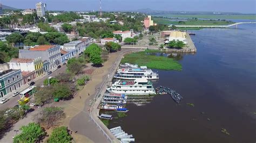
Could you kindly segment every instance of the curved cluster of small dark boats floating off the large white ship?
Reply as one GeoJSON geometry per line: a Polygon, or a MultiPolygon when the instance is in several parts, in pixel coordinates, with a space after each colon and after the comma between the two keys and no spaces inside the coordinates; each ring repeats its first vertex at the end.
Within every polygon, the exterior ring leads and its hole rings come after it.
{"type": "Polygon", "coordinates": [[[178,94],[178,92],[176,92],[175,90],[171,89],[171,88],[166,88],[163,86],[159,86],[156,88],[157,94],[169,94],[171,95],[172,99],[176,102],[179,103],[181,101],[181,99],[183,99],[183,97],[178,94]]]}

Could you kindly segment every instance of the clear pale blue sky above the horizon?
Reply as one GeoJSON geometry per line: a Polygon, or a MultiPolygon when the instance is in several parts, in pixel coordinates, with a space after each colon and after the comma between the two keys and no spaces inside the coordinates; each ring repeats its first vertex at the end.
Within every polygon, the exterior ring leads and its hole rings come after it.
{"type": "MultiPolygon", "coordinates": [[[[99,10],[99,0],[0,0],[0,3],[18,9],[35,8],[37,2],[47,4],[48,10],[99,10]]],[[[138,9],[164,11],[212,11],[256,13],[256,0],[102,0],[103,11],[138,9]]]]}

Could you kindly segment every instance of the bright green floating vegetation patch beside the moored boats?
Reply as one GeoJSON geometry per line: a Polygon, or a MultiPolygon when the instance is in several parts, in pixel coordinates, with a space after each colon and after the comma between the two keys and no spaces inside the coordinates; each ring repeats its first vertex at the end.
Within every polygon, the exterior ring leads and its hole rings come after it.
{"type": "Polygon", "coordinates": [[[158,50],[145,50],[142,52],[131,53],[125,55],[121,63],[137,64],[139,66],[147,66],[152,69],[162,70],[181,70],[179,62],[165,56],[150,55],[147,53],[158,53],[158,50]]]}

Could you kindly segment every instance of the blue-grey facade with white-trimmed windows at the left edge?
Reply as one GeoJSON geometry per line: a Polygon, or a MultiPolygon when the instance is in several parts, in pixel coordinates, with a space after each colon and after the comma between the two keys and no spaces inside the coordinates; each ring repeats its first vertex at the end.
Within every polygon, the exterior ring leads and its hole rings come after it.
{"type": "Polygon", "coordinates": [[[21,70],[9,69],[0,72],[0,98],[18,90],[23,85],[21,70]]]}

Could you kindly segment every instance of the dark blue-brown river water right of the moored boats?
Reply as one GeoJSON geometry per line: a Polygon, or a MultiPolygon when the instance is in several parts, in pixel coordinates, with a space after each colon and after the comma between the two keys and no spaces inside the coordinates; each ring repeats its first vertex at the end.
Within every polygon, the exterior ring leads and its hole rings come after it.
{"type": "Polygon", "coordinates": [[[170,95],[159,95],[144,106],[127,104],[127,117],[109,128],[122,126],[136,142],[256,141],[256,25],[192,32],[197,53],[170,54],[183,70],[158,70],[154,82],[176,90],[183,101],[177,105],[170,95]]]}

